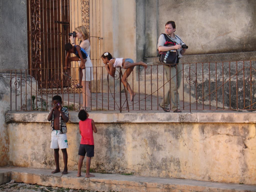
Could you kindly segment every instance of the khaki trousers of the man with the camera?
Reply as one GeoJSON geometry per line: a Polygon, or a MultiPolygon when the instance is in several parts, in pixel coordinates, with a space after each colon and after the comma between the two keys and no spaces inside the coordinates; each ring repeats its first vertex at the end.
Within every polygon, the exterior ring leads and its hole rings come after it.
{"type": "Polygon", "coordinates": [[[164,99],[161,101],[160,106],[167,108],[170,104],[170,95],[171,95],[171,109],[175,110],[177,109],[177,107],[179,107],[179,86],[180,86],[180,82],[182,80],[182,65],[178,64],[177,65],[177,74],[176,74],[176,66],[164,66],[165,69],[165,75],[166,75],[166,79],[167,81],[169,81],[170,79],[170,89],[164,90],[165,95],[164,95],[164,99]],[[170,77],[171,74],[171,77],[170,77]],[[176,81],[177,79],[177,81],[176,81]],[[177,84],[176,84],[177,82],[177,84]],[[178,85],[178,86],[177,86],[178,85]],[[171,93],[171,94],[170,94],[171,93]]]}

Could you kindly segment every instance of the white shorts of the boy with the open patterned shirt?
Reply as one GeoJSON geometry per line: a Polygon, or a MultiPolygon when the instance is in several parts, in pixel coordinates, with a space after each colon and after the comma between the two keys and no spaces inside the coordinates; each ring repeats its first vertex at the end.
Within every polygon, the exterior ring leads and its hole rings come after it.
{"type": "Polygon", "coordinates": [[[51,132],[51,149],[65,148],[68,148],[67,134],[60,134],[60,130],[53,130],[51,132]]]}

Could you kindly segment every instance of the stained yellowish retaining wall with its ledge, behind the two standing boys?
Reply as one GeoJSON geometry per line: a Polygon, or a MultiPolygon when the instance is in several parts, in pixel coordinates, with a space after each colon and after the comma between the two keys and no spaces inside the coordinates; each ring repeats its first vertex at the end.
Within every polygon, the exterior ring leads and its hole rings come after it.
{"type": "MultiPolygon", "coordinates": [[[[54,168],[47,113],[8,113],[9,165],[54,168]]],[[[256,184],[255,113],[90,113],[99,172],[256,184]]],[[[68,168],[77,169],[77,113],[68,123],[68,168]]],[[[61,152],[60,152],[61,153],[61,152]]],[[[62,155],[60,164],[63,168],[62,155]]],[[[85,165],[85,164],[84,164],[85,165]]]]}

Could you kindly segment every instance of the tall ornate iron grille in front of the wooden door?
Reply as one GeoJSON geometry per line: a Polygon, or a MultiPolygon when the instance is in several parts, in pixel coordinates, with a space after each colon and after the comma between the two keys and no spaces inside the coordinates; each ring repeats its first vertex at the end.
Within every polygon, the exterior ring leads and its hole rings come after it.
{"type": "MultiPolygon", "coordinates": [[[[65,66],[64,45],[68,33],[78,26],[86,26],[90,34],[93,67],[99,61],[99,1],[98,0],[28,0],[28,60],[31,75],[37,80],[38,90],[69,86],[63,80],[65,66]],[[90,13],[91,9],[91,13],[90,13]],[[90,17],[92,18],[90,20],[90,17]],[[92,28],[90,28],[90,25],[92,28]]],[[[77,64],[73,63],[73,67],[77,64]]],[[[75,73],[73,80],[77,79],[75,73]]]]}

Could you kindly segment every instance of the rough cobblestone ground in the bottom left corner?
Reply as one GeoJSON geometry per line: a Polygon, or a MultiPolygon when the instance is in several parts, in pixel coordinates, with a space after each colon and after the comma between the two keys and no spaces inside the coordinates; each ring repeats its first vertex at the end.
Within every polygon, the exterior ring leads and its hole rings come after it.
{"type": "Polygon", "coordinates": [[[42,185],[30,185],[26,183],[15,183],[14,180],[11,180],[9,183],[0,185],[0,191],[2,192],[99,192],[95,190],[77,190],[77,189],[68,189],[68,188],[59,188],[59,187],[46,187],[42,185]]]}

